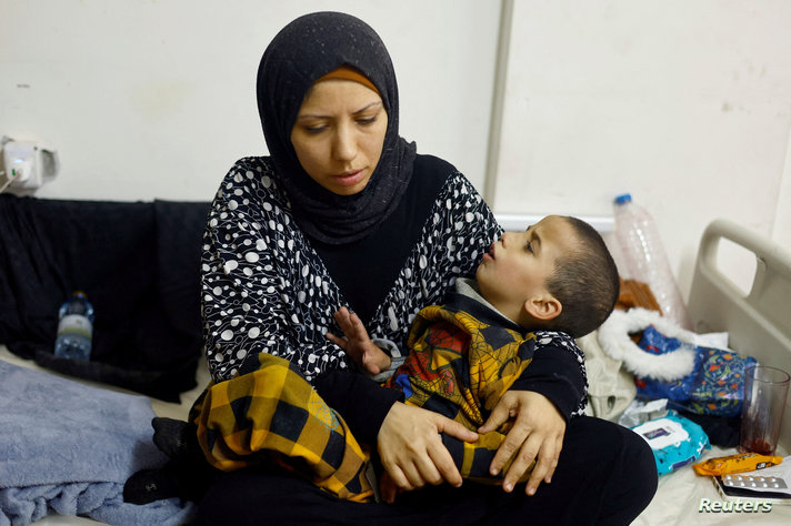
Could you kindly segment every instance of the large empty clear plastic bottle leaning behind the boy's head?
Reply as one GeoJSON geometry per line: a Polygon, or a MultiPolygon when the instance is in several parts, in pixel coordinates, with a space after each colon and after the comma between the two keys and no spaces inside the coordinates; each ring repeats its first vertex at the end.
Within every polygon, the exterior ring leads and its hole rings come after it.
{"type": "Polygon", "coordinates": [[[691,330],[692,322],[670,269],[657,223],[645,209],[632,202],[628,193],[615,198],[615,239],[628,277],[651,289],[662,315],[691,330]]]}

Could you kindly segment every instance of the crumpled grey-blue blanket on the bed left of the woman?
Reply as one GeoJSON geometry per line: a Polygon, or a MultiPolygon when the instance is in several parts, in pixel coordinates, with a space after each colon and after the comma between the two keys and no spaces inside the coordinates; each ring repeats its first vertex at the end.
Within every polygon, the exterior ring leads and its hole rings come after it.
{"type": "Polygon", "coordinates": [[[179,499],[123,502],[123,484],[167,457],[151,404],[0,361],[0,526],[54,510],[117,525],[181,524],[179,499]]]}

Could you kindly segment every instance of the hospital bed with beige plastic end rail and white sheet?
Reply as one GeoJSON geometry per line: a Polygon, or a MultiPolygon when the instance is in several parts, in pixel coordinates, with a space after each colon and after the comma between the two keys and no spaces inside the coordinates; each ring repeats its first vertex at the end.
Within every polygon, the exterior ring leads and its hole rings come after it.
{"type": "MultiPolygon", "coordinates": [[[[605,229],[608,226],[605,225],[605,229]]],[[[717,220],[705,230],[695,262],[689,299],[689,313],[699,333],[727,331],[731,348],[754,356],[761,364],[791,371],[791,252],[729,221],[717,220]],[[755,275],[749,293],[740,292],[718,265],[721,241],[729,240],[754,254],[755,275]]],[[[0,346],[0,358],[24,367],[38,368],[0,346]]],[[[54,374],[54,373],[48,373],[54,374]]],[[[208,382],[204,363],[198,366],[197,386],[183,394],[182,403],[152,398],[160,416],[186,418],[191,402],[208,382]]],[[[84,382],[84,381],[81,381],[84,382]]],[[[90,382],[84,382],[89,383],[90,382]]],[[[107,386],[103,386],[107,387],[107,386]]],[[[780,454],[791,452],[791,408],[787,406],[780,438],[780,454]]],[[[735,449],[713,447],[701,459],[724,456],[735,449]]],[[[701,510],[703,500],[722,500],[708,477],[694,474],[689,466],[660,477],[659,489],[637,525],[720,525],[791,524],[791,505],[774,504],[769,513],[712,513],[701,510]]],[[[73,516],[50,515],[41,525],[96,524],[73,516]]]]}

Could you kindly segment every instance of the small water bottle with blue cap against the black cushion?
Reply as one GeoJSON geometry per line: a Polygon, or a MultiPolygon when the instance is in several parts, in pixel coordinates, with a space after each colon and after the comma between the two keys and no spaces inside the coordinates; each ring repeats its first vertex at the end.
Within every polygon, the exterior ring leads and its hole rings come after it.
{"type": "Polygon", "coordinates": [[[82,291],[76,291],[58,311],[58,337],[54,355],[64,358],[90,360],[93,341],[93,305],[82,291]]]}

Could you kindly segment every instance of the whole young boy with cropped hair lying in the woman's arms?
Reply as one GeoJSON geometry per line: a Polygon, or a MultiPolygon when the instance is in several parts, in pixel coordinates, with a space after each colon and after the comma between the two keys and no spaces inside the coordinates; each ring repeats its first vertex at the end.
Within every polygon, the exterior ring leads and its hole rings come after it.
{"type": "MultiPolygon", "coordinates": [[[[384,383],[401,390],[407,404],[473,431],[509,388],[520,387],[537,348],[575,350],[573,338],[597,328],[619,293],[618,272],[601,236],[578,219],[555,215],[525,232],[504,233],[483,255],[475,277],[459,280],[444,304],[421,310],[408,340],[410,353],[384,383]]],[[[363,370],[376,375],[394,368],[391,355],[369,338],[357,315],[342,307],[336,318],[344,337],[327,337],[363,370]]],[[[232,407],[233,414],[217,422],[203,419],[207,414],[190,418],[198,424],[207,459],[233,471],[249,466],[257,458],[250,452],[257,451],[259,458],[308,475],[341,498],[369,499],[367,448],[324,403],[321,390],[294,378],[299,373],[286,360],[264,354],[259,360],[258,371],[207,390],[202,402],[212,405],[217,398],[231,407],[227,401],[234,397],[229,391],[237,391],[233,382],[247,382],[253,386],[239,392],[260,392],[253,397],[259,406],[248,402],[232,407]]],[[[508,425],[480,434],[472,444],[443,435],[463,477],[491,481],[488,467],[508,425]]]]}

